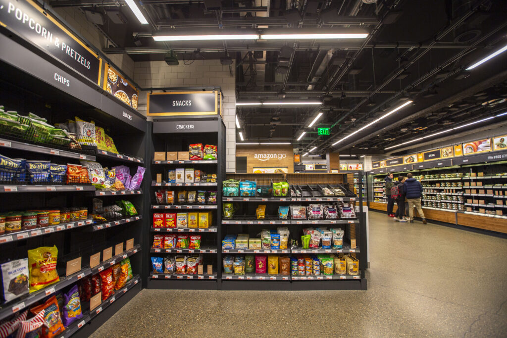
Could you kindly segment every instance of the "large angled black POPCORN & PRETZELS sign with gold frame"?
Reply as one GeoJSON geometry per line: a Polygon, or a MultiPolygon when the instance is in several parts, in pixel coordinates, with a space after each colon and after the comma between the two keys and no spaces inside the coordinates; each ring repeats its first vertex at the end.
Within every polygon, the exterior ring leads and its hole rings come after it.
{"type": "Polygon", "coordinates": [[[100,85],[102,59],[34,2],[0,0],[0,25],[100,85]]]}

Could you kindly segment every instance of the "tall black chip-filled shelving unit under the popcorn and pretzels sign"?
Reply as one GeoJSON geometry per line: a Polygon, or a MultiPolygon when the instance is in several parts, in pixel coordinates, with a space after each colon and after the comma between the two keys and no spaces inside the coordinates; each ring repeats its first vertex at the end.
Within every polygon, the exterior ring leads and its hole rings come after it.
{"type": "Polygon", "coordinates": [[[88,336],[141,289],[146,118],[1,32],[2,332],[88,336]]]}

